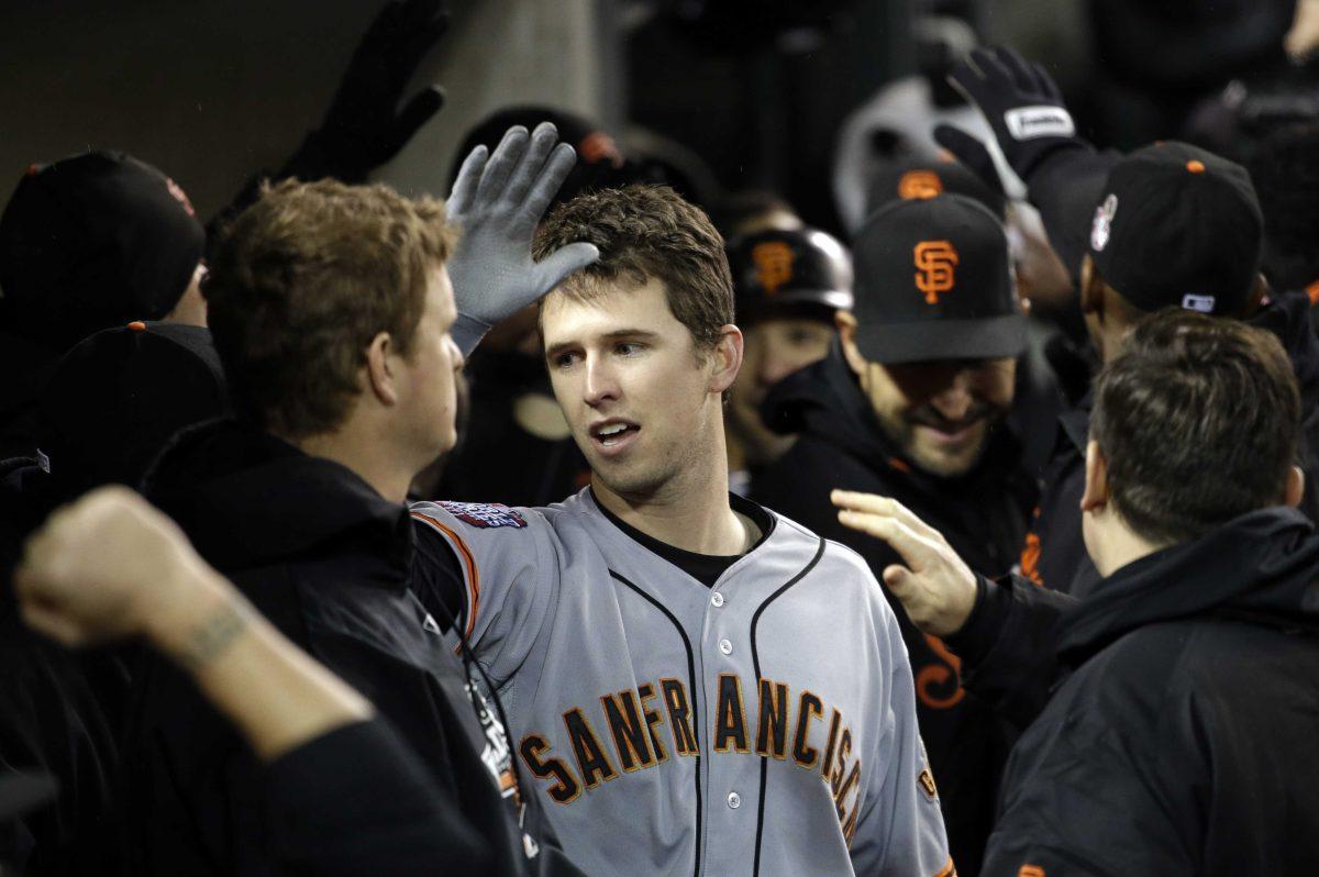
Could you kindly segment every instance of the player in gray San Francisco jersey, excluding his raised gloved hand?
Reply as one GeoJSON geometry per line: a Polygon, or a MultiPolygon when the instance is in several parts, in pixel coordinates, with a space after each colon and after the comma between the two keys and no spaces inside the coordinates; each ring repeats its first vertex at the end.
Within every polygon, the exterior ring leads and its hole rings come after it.
{"type": "Polygon", "coordinates": [[[541,311],[591,487],[413,517],[418,592],[497,687],[565,851],[591,874],[948,877],[878,584],[728,493],[741,334],[718,233],[671,190],[632,186],[562,207],[537,252],[561,240],[601,253],[541,311]]]}

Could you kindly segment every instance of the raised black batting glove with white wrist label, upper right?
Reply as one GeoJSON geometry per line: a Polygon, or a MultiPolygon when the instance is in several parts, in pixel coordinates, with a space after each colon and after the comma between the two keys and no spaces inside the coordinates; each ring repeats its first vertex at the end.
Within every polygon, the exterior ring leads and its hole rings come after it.
{"type": "MultiPolygon", "coordinates": [[[[948,82],[980,109],[1008,165],[1028,183],[1031,171],[1059,149],[1093,152],[1076,136],[1053,76],[1012,49],[976,49],[952,67],[948,82]]],[[[939,142],[962,157],[952,145],[939,142]]]]}

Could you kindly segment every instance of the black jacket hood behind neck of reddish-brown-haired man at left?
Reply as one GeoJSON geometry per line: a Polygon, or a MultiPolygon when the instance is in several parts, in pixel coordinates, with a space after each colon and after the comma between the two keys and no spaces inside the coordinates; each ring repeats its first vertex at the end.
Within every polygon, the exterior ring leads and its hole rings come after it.
{"type": "Polygon", "coordinates": [[[361,546],[406,567],[408,510],[331,460],[232,419],[187,430],[146,475],[144,493],[224,568],[361,546]]]}

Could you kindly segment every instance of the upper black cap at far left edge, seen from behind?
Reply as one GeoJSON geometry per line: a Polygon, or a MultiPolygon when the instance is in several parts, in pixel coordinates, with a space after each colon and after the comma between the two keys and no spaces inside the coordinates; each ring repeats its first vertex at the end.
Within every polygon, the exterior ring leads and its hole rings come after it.
{"type": "Polygon", "coordinates": [[[98,330],[161,319],[204,245],[183,190],[132,156],[32,165],[0,216],[0,326],[63,352],[98,330]]]}

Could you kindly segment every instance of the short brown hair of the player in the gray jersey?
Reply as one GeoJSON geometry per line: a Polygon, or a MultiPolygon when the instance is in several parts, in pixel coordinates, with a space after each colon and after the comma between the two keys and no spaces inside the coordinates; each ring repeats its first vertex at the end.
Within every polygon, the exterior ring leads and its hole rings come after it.
{"type": "Polygon", "coordinates": [[[710,218],[669,186],[633,185],[578,195],[536,232],[533,255],[545,258],[574,241],[600,249],[600,260],[568,277],[558,293],[590,299],[619,278],[638,286],[663,281],[669,310],[696,348],[719,343],[733,322],[733,280],[724,241],[710,218]]]}

